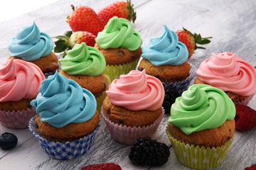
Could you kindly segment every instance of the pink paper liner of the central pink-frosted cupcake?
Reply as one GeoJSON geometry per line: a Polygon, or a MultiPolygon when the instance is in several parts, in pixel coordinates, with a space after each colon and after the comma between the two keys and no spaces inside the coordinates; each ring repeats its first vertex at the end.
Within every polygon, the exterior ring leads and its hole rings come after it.
{"type": "Polygon", "coordinates": [[[109,120],[107,113],[105,113],[103,106],[102,115],[107,125],[107,129],[110,131],[110,135],[114,140],[125,145],[133,145],[134,141],[137,140],[138,137],[154,137],[161,120],[164,118],[164,108],[162,108],[159,118],[157,118],[152,125],[148,125],[146,127],[143,126],[142,128],[132,128],[131,126],[127,127],[126,125],[112,123],[109,120]]]}

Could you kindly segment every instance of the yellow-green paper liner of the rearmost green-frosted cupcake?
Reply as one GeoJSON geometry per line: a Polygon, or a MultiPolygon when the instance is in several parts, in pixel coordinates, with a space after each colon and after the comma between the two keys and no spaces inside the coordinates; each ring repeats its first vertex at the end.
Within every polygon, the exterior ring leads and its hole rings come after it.
{"type": "Polygon", "coordinates": [[[119,64],[119,65],[107,65],[104,74],[110,77],[112,82],[114,79],[119,79],[121,74],[128,74],[131,70],[136,69],[139,59],[134,60],[133,62],[119,64]]]}

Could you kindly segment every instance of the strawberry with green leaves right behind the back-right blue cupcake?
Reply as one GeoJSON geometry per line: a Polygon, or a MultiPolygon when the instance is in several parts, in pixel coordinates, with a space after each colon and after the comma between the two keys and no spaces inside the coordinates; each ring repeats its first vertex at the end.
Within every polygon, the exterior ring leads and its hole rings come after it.
{"type": "Polygon", "coordinates": [[[196,49],[206,49],[205,47],[198,47],[199,45],[206,45],[210,43],[209,38],[201,38],[200,34],[194,33],[192,34],[189,30],[183,28],[183,30],[177,30],[176,34],[178,35],[178,41],[183,42],[188,48],[188,58],[190,58],[196,49]]]}

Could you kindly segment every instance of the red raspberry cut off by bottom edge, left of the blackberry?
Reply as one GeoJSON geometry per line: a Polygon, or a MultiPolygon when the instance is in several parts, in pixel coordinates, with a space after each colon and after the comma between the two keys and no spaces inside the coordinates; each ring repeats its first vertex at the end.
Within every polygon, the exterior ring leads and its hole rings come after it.
{"type": "Polygon", "coordinates": [[[102,164],[93,164],[82,167],[81,170],[122,170],[118,164],[114,163],[102,163],[102,164]]]}

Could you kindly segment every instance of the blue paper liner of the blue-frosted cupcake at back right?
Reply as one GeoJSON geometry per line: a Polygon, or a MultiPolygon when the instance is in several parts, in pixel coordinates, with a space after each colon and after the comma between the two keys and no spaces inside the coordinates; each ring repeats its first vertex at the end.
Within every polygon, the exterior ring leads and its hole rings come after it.
{"type": "Polygon", "coordinates": [[[189,76],[185,80],[175,82],[175,83],[165,83],[165,82],[162,82],[162,83],[164,87],[170,86],[171,88],[176,89],[178,93],[181,95],[183,91],[186,91],[188,89],[188,86],[191,84],[191,81],[194,77],[196,77],[196,67],[193,64],[191,64],[191,70],[189,71],[189,76]]]}

